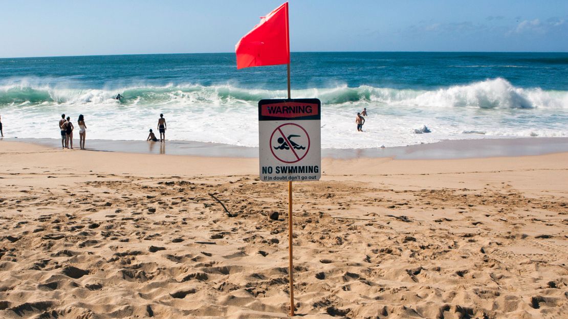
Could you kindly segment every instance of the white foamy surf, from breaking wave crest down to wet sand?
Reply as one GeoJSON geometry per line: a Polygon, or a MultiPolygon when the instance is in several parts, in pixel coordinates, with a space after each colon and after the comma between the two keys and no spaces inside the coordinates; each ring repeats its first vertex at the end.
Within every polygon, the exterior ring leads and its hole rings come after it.
{"type": "MultiPolygon", "coordinates": [[[[103,89],[52,87],[46,79],[11,79],[0,84],[0,112],[7,136],[57,137],[65,113],[85,115],[89,138],[145,139],[158,114],[168,138],[232,145],[258,144],[257,103],[285,98],[285,90],[237,85],[129,86],[103,89]],[[117,93],[126,98],[114,99],[117,93]],[[17,125],[14,125],[17,123],[17,125]],[[54,129],[55,128],[55,129],[54,129]]],[[[437,90],[385,87],[310,88],[294,98],[322,102],[324,148],[373,148],[448,139],[568,136],[568,92],[524,89],[502,78],[437,90]],[[363,133],[354,115],[366,107],[363,133]],[[426,125],[431,133],[414,134],[426,125]]]]}

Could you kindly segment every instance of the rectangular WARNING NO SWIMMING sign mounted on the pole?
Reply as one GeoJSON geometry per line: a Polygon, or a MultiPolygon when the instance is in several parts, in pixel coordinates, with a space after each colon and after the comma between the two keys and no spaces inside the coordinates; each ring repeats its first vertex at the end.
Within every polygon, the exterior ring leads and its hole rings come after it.
{"type": "Polygon", "coordinates": [[[258,102],[260,179],[317,181],[321,177],[319,99],[258,102]]]}

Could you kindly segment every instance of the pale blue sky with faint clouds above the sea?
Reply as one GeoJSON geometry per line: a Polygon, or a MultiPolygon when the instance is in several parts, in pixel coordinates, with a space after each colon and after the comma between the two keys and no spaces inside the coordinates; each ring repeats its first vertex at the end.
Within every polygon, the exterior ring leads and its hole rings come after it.
{"type": "MultiPolygon", "coordinates": [[[[234,52],[283,0],[0,0],[0,57],[234,52]]],[[[291,51],[568,51],[568,1],[291,0],[291,51]]]]}

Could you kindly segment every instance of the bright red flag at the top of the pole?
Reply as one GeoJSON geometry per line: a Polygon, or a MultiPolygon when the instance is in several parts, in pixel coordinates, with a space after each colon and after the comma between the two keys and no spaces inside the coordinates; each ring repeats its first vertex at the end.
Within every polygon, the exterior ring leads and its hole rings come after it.
{"type": "Polygon", "coordinates": [[[237,69],[290,63],[288,2],[261,17],[235,45],[237,69]]]}

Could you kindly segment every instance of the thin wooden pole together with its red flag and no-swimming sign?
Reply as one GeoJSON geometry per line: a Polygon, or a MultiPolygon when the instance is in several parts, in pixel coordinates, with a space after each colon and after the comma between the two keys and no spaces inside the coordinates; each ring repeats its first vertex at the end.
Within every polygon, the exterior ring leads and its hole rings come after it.
{"type": "MultiPolygon", "coordinates": [[[[272,175],[274,171],[273,166],[266,166],[270,167],[270,170],[265,172],[264,181],[287,181],[288,182],[288,195],[289,195],[289,224],[290,224],[290,232],[289,232],[289,245],[290,245],[290,316],[294,316],[294,286],[292,282],[292,181],[304,181],[304,180],[311,180],[315,181],[320,178],[320,169],[321,161],[320,161],[320,131],[319,131],[319,114],[320,114],[320,106],[321,103],[317,99],[296,99],[292,100],[290,98],[290,28],[288,26],[288,2],[285,2],[283,5],[279,6],[278,8],[272,10],[269,14],[263,16],[260,20],[260,23],[257,24],[253,30],[250,30],[245,36],[243,36],[239,42],[235,45],[235,53],[237,57],[237,69],[242,68],[249,68],[250,66],[262,66],[262,65],[279,65],[279,64],[286,64],[287,65],[287,75],[288,75],[288,99],[286,100],[261,100],[258,102],[258,117],[260,122],[262,121],[278,121],[278,120],[285,120],[285,119],[294,119],[294,120],[311,120],[311,121],[318,121],[318,131],[317,134],[313,129],[306,129],[302,126],[302,124],[294,124],[294,123],[282,123],[279,127],[272,131],[270,135],[270,146],[264,145],[262,146],[262,142],[266,142],[263,138],[266,138],[266,134],[260,134],[260,153],[261,156],[263,154],[263,149],[270,149],[274,147],[277,151],[272,152],[275,158],[278,158],[283,164],[291,164],[291,163],[298,163],[295,165],[296,168],[286,168],[286,166],[279,166],[283,167],[284,171],[282,173],[275,173],[279,179],[273,179],[272,175]],[[270,102],[273,101],[273,102],[270,102]],[[310,102],[311,101],[311,102],[310,102]],[[278,109],[279,111],[268,111],[268,113],[264,114],[262,104],[265,102],[266,104],[280,104],[278,109]],[[270,103],[269,103],[270,102],[270,103]],[[300,103],[300,105],[296,105],[294,103],[300,103]],[[314,103],[317,104],[317,112],[313,112],[314,103]],[[303,104],[303,105],[302,105],[303,104]],[[304,107],[305,110],[310,108],[310,111],[293,111],[291,115],[293,116],[286,116],[286,113],[290,112],[283,111],[283,110],[290,110],[290,107],[298,108],[304,107]],[[261,115],[264,114],[264,115],[261,115]],[[295,115],[295,116],[294,116],[295,115]],[[261,117],[265,116],[264,119],[261,117]],[[273,116],[275,119],[270,119],[269,117],[273,116]],[[307,118],[307,117],[314,117],[314,118],[307,118]],[[301,118],[306,117],[306,118],[301,118]],[[317,117],[317,119],[315,118],[317,117]],[[300,119],[301,118],[301,119],[300,119]],[[302,131],[298,130],[301,129],[302,131]],[[278,132],[277,132],[278,131],[278,132]],[[298,135],[299,134],[299,135],[298,135]],[[311,138],[310,138],[311,135],[311,138]],[[275,136],[278,145],[273,146],[273,137],[275,136]],[[294,138],[294,140],[292,139],[294,138]],[[307,138],[307,149],[306,146],[303,146],[299,143],[306,143],[307,138]],[[298,141],[298,140],[301,141],[298,141]],[[313,141],[313,142],[312,142],[313,141]],[[310,150],[310,144],[312,144],[310,150]],[[296,148],[298,146],[298,148],[296,148]],[[297,152],[296,152],[297,150],[297,152]],[[301,151],[300,151],[301,150],[301,151]],[[314,165],[314,154],[317,150],[317,157],[318,162],[317,165],[314,165]],[[286,151],[286,152],[280,152],[286,151]],[[291,152],[289,152],[291,151],[291,152]],[[277,155],[278,153],[278,155],[277,155]],[[300,155],[298,155],[300,153],[300,155]],[[308,155],[310,153],[310,155],[308,155]],[[292,154],[294,156],[292,156],[292,154]],[[304,158],[307,158],[304,160],[304,158]],[[312,161],[310,161],[312,159],[312,161]],[[308,162],[308,163],[304,163],[308,162]],[[309,166],[311,165],[311,166],[309,166]],[[301,167],[304,167],[303,169],[301,167]],[[305,171],[306,167],[311,167],[310,175],[298,175],[297,170],[305,171]],[[300,167],[300,168],[298,168],[300,167]],[[315,171],[314,171],[315,170],[315,171]],[[314,175],[315,173],[315,175],[314,175]]],[[[273,105],[273,107],[277,107],[273,105]]],[[[308,125],[308,124],[306,124],[308,125]]],[[[259,127],[266,127],[271,128],[270,125],[262,125],[260,124],[259,127]]],[[[310,125],[308,125],[310,126],[310,125]]],[[[274,128],[274,127],[272,127],[274,128]]],[[[262,131],[261,131],[262,132],[262,131]]],[[[265,152],[266,153],[266,152],[265,152]]],[[[270,159],[270,155],[268,153],[265,154],[265,160],[270,159]]],[[[261,181],[263,173],[263,165],[262,165],[262,158],[261,158],[261,181]]]]}

